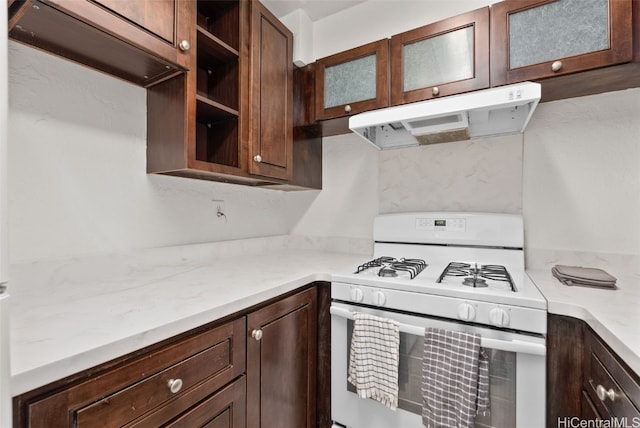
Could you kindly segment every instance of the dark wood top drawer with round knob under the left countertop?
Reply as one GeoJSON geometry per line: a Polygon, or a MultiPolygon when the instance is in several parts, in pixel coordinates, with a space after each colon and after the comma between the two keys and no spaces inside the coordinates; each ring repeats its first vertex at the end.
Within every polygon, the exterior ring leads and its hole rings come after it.
{"type": "Polygon", "coordinates": [[[158,409],[179,414],[244,373],[245,337],[242,317],[171,343],[29,404],[28,426],[120,427],[158,409]],[[175,392],[172,380],[182,383],[175,392]]]}

